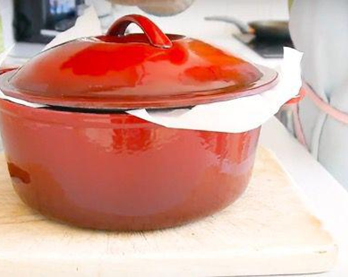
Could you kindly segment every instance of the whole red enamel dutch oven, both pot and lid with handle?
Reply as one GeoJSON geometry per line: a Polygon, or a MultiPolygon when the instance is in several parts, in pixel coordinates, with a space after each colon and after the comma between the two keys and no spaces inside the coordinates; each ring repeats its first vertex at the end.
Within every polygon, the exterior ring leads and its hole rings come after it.
{"type": "MultiPolygon", "coordinates": [[[[260,93],[276,72],[139,15],[4,70],[0,100],[11,180],[30,207],[74,225],[149,230],[210,215],[245,190],[260,128],[169,129],[125,113],[260,93]],[[143,34],[125,35],[130,23],[143,34]]],[[[209,116],[209,115],[207,115],[209,116]]]]}

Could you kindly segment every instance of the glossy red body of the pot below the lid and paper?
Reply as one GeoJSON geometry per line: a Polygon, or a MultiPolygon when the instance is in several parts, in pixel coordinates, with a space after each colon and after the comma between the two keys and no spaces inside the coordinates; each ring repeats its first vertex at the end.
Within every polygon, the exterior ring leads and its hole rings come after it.
{"type": "Polygon", "coordinates": [[[168,129],[128,114],[33,109],[0,100],[9,172],[27,205],[78,226],[147,230],[183,224],[247,186],[259,129],[168,129]]]}

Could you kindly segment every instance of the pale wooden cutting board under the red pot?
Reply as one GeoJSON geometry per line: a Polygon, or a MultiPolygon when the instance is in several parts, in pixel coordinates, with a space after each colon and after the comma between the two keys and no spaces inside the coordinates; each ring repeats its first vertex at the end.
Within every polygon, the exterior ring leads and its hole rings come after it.
{"type": "Polygon", "coordinates": [[[0,156],[0,276],[245,276],[322,272],[337,249],[275,156],[260,147],[233,205],[180,228],[118,233],[46,220],[14,193],[0,156]]]}

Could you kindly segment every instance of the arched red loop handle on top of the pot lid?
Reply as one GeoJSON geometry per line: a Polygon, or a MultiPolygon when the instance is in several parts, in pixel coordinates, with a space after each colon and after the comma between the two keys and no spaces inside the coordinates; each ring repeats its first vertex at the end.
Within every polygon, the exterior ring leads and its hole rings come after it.
{"type": "Polygon", "coordinates": [[[107,36],[124,36],[129,24],[137,24],[146,34],[151,45],[159,48],[171,48],[172,41],[149,18],[142,15],[126,15],[114,22],[106,33],[107,36]]]}

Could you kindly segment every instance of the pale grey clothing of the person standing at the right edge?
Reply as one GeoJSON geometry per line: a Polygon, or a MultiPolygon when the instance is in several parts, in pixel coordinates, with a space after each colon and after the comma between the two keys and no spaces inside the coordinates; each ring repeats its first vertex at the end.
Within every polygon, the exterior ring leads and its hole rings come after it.
{"type": "MultiPolygon", "coordinates": [[[[304,52],[304,81],[331,107],[348,113],[348,0],[295,0],[290,32],[304,52]]],[[[309,97],[300,103],[299,117],[310,152],[348,189],[348,125],[309,97]]]]}

